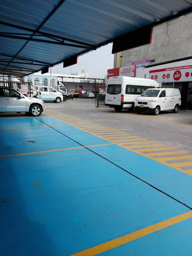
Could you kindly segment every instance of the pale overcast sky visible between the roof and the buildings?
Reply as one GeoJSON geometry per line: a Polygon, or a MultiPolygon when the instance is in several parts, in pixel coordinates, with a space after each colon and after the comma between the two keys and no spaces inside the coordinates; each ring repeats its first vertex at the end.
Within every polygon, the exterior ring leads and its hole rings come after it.
{"type": "MultiPolygon", "coordinates": [[[[113,68],[112,43],[101,46],[84,55],[77,57],[77,64],[68,67],[62,67],[62,63],[51,67],[51,73],[71,74],[71,73],[88,73],[91,78],[105,78],[107,69],[113,68]]],[[[49,68],[50,72],[50,68],[49,68]]]]}

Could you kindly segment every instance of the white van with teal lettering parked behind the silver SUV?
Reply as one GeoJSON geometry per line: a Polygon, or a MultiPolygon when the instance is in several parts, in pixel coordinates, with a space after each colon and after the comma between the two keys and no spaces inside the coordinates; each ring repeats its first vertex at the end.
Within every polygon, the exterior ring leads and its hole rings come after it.
{"type": "Polygon", "coordinates": [[[34,86],[36,89],[36,95],[39,99],[45,100],[53,100],[56,103],[60,103],[63,100],[62,93],[55,90],[50,86],[34,86]],[[39,92],[39,93],[38,93],[39,92]],[[39,95],[40,94],[40,95],[39,95]]]}

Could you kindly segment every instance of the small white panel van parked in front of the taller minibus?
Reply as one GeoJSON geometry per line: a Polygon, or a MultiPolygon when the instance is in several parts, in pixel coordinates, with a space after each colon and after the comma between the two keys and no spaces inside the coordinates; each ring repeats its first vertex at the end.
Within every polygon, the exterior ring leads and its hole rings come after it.
{"type": "Polygon", "coordinates": [[[157,115],[163,110],[178,112],[181,104],[180,91],[176,88],[146,89],[134,102],[135,112],[153,112],[157,115]]]}

